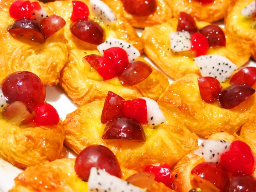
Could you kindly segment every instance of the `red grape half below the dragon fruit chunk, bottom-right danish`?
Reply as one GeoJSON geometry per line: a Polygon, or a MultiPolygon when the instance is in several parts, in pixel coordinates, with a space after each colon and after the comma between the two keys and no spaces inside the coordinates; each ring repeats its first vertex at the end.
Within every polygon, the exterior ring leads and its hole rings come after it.
{"type": "Polygon", "coordinates": [[[209,181],[212,184],[211,188],[215,186],[220,192],[228,191],[229,178],[222,166],[214,162],[198,164],[192,169],[191,174],[194,176],[192,177],[191,183],[196,188],[207,189],[206,181],[209,181]]]}

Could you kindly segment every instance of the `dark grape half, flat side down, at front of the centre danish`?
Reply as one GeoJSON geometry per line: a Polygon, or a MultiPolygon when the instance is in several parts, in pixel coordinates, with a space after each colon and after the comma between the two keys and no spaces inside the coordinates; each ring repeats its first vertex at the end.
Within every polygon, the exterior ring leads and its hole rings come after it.
{"type": "Polygon", "coordinates": [[[146,137],[139,122],[128,118],[118,118],[107,124],[102,139],[145,141],[146,137]]]}

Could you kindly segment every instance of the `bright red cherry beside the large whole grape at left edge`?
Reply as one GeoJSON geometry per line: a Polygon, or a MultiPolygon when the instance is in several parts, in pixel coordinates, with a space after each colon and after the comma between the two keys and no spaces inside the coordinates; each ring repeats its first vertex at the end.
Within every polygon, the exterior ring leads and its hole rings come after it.
{"type": "Polygon", "coordinates": [[[57,125],[60,121],[58,112],[48,103],[40,103],[34,109],[36,111],[34,121],[38,126],[57,125]]]}

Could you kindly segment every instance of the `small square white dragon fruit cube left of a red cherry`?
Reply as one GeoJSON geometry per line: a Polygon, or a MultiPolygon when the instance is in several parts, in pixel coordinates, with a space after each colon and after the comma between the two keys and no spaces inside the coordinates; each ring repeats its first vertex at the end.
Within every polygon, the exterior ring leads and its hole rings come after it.
{"type": "Polygon", "coordinates": [[[191,35],[187,31],[171,32],[171,51],[181,52],[189,51],[191,48],[191,35]]]}

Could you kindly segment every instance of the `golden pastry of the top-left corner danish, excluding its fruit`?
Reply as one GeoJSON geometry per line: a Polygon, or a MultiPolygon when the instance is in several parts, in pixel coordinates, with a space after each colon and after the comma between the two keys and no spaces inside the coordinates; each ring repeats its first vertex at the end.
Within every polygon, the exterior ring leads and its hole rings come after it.
{"type": "MultiPolygon", "coordinates": [[[[43,44],[13,38],[7,28],[15,22],[9,15],[9,7],[14,1],[0,2],[0,82],[10,73],[26,70],[38,75],[44,84],[54,86],[58,84],[60,71],[68,61],[64,29],[47,38],[43,44]]],[[[48,15],[53,14],[43,3],[40,5],[48,15]]]]}

